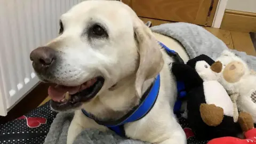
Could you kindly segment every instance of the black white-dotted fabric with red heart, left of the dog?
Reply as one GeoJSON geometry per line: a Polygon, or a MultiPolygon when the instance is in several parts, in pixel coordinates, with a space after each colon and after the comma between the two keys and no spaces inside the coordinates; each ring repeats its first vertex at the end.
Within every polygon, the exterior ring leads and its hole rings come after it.
{"type": "Polygon", "coordinates": [[[56,115],[47,102],[14,121],[1,124],[0,143],[44,143],[56,115]]]}

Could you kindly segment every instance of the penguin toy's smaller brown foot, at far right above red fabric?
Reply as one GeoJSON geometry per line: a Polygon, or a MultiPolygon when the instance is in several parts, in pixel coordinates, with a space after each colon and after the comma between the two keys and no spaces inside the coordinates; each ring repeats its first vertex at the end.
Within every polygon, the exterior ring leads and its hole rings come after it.
{"type": "Polygon", "coordinates": [[[247,132],[254,128],[252,116],[245,112],[240,112],[238,116],[238,123],[243,132],[247,132]]]}

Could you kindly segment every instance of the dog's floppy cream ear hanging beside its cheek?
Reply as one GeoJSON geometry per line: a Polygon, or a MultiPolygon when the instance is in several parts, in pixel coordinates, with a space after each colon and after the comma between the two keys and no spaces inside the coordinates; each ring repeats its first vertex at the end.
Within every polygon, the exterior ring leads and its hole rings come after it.
{"type": "Polygon", "coordinates": [[[143,83],[159,74],[163,68],[164,60],[161,46],[151,30],[142,21],[134,27],[134,37],[138,43],[139,52],[139,68],[135,79],[135,89],[137,95],[141,97],[143,83]]]}

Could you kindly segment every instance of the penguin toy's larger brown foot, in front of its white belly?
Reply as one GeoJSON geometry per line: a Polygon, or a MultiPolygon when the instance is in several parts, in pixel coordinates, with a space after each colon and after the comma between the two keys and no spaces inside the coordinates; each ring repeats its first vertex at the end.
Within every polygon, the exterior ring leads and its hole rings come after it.
{"type": "Polygon", "coordinates": [[[217,107],[213,104],[208,105],[206,103],[200,105],[200,113],[204,123],[209,126],[219,125],[222,122],[224,114],[221,107],[217,107]]]}

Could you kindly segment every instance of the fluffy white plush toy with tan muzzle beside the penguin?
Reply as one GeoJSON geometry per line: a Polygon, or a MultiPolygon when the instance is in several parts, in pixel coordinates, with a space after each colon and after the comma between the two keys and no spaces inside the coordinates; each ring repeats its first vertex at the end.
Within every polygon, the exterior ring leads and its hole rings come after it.
{"type": "Polygon", "coordinates": [[[238,110],[251,114],[256,123],[256,75],[247,63],[234,53],[225,50],[216,60],[223,64],[218,81],[225,87],[234,104],[234,121],[238,110]],[[237,107],[237,108],[236,108],[237,107]]]}

